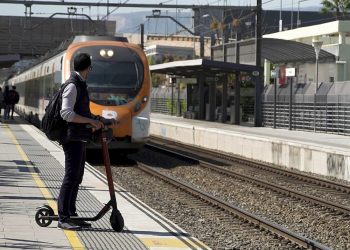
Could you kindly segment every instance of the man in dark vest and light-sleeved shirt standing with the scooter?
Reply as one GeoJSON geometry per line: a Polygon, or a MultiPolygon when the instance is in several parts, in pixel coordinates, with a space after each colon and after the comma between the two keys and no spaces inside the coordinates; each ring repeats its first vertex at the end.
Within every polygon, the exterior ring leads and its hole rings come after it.
{"type": "Polygon", "coordinates": [[[90,227],[85,221],[72,220],[71,216],[78,216],[76,199],[79,185],[83,180],[86,142],[91,139],[92,129],[103,128],[103,123],[92,118],[89,107],[89,94],[86,79],[92,70],[90,55],[78,54],[74,58],[74,71],[67,80],[68,85],[62,94],[61,116],[67,121],[67,131],[60,143],[65,155],[65,175],[58,196],[58,228],[80,230],[90,227]]]}

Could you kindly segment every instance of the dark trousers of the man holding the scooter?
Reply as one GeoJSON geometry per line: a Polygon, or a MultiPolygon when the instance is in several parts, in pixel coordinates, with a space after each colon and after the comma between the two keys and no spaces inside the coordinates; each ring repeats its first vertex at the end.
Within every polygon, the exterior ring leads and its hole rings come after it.
{"type": "Polygon", "coordinates": [[[60,221],[76,215],[75,202],[84,175],[86,142],[69,141],[62,146],[65,154],[65,175],[58,197],[60,221]]]}

